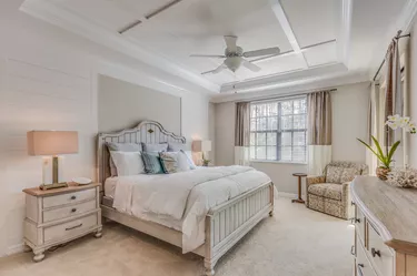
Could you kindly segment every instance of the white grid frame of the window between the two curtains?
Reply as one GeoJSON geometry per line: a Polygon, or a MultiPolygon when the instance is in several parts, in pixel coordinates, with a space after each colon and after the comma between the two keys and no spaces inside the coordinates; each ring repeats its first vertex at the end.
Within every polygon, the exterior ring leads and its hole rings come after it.
{"type": "MultiPolygon", "coordinates": [[[[250,133],[250,140],[252,134],[255,134],[255,141],[254,143],[250,141],[250,151],[255,151],[255,159],[252,159],[252,154],[249,154],[250,156],[250,162],[254,163],[288,163],[288,164],[307,164],[307,96],[297,96],[297,98],[290,98],[290,99],[276,99],[276,100],[270,100],[270,101],[262,101],[262,102],[252,102],[250,104],[250,126],[249,126],[249,133],[250,133]],[[304,113],[294,113],[294,102],[299,101],[299,100],[305,100],[306,101],[306,111],[304,113]],[[291,102],[291,110],[292,112],[290,114],[282,114],[282,108],[281,103],[284,102],[291,102]],[[261,116],[252,116],[252,105],[260,105],[260,104],[268,104],[268,103],[276,103],[277,104],[277,115],[269,115],[268,112],[265,112],[261,116]],[[294,116],[297,115],[304,115],[305,116],[305,129],[294,129],[294,116]],[[285,116],[292,116],[292,122],[291,122],[291,129],[282,129],[282,117],[285,116]],[[276,117],[277,119],[277,129],[276,130],[268,130],[268,119],[270,117],[276,117]],[[255,120],[256,126],[259,124],[259,119],[266,119],[265,124],[266,130],[262,131],[252,131],[252,120],[255,120]],[[304,133],[305,134],[305,144],[304,145],[294,145],[294,134],[295,133],[304,133]],[[264,145],[258,145],[257,144],[257,137],[258,134],[265,133],[265,144],[264,145]],[[276,143],[274,145],[268,144],[268,133],[275,133],[276,134],[276,143]],[[282,146],[282,133],[290,133],[291,134],[291,144],[288,146],[282,146]],[[257,149],[258,146],[265,147],[265,159],[256,159],[257,154],[257,149]],[[275,160],[268,159],[268,147],[276,147],[276,157],[275,160]],[[291,149],[291,160],[282,160],[282,147],[290,147],[291,149]],[[294,161],[294,152],[295,147],[304,147],[304,153],[305,153],[305,160],[304,161],[294,161]]],[[[258,127],[257,127],[258,129],[258,127]]]]}

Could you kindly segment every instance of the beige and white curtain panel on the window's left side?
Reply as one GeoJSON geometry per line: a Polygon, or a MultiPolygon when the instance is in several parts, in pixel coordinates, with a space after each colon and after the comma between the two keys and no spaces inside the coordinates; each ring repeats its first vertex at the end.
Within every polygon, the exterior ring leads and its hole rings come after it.
{"type": "Polygon", "coordinates": [[[241,102],[236,104],[235,124],[235,164],[248,166],[250,144],[250,103],[241,102]]]}

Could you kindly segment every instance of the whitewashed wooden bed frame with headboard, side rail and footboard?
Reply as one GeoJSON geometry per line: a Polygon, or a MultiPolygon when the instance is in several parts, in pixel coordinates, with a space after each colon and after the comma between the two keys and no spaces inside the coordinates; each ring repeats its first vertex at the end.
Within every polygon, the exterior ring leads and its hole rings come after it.
{"type": "MultiPolygon", "coordinates": [[[[186,143],[186,139],[166,131],[155,121],[143,121],[133,129],[98,135],[98,178],[105,183],[110,177],[109,152],[106,142],[118,143],[186,143]]],[[[103,187],[105,188],[105,187],[103,187]]],[[[152,222],[117,212],[112,200],[103,196],[102,216],[139,232],[182,247],[182,233],[152,222]]],[[[274,213],[274,184],[265,183],[210,209],[206,216],[206,242],[193,253],[205,258],[206,275],[215,274],[219,258],[239,242],[268,214],[274,213]]]]}

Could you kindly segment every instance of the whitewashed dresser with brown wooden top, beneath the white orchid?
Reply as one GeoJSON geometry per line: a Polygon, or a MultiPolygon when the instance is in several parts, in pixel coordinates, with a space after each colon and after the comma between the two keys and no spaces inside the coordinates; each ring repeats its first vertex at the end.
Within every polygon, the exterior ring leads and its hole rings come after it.
{"type": "Polygon", "coordinates": [[[357,176],[351,247],[356,276],[417,276],[417,190],[357,176]]]}

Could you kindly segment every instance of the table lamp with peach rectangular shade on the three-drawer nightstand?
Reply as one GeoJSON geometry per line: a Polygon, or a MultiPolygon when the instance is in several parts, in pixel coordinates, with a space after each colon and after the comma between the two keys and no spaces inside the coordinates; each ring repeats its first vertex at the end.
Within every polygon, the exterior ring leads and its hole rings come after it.
{"type": "Polygon", "coordinates": [[[78,132],[76,131],[30,131],[28,153],[32,156],[52,156],[52,184],[42,184],[41,188],[67,186],[58,183],[58,155],[78,153],[78,132]]]}

